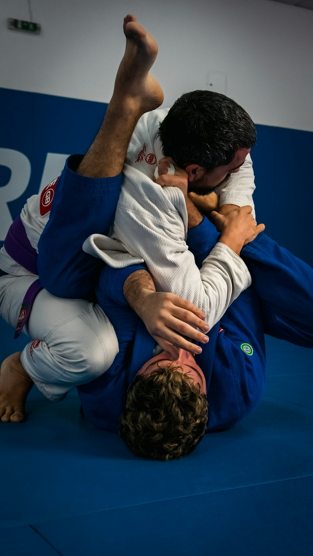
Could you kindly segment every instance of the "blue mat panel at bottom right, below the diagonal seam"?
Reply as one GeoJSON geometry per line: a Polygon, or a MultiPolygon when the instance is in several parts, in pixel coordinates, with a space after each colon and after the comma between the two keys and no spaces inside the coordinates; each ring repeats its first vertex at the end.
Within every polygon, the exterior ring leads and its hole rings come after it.
{"type": "Polygon", "coordinates": [[[34,529],[64,556],[311,556],[312,487],[312,477],[279,481],[60,519],[34,529]]]}

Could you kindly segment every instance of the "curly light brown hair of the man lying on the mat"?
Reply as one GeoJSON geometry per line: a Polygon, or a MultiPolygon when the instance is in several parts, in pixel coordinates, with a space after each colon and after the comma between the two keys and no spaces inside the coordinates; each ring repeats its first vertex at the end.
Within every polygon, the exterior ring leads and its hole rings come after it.
{"type": "Polygon", "coordinates": [[[180,366],[137,375],[120,417],[120,435],[133,454],[170,460],[194,450],[206,431],[207,400],[180,366]]]}

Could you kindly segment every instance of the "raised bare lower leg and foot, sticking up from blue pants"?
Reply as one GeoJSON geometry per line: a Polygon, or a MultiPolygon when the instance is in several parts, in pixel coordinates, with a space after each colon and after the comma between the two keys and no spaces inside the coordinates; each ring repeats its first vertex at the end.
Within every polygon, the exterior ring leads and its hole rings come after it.
{"type": "Polygon", "coordinates": [[[157,43],[134,16],[124,19],[126,49],[117,71],[105,119],[77,172],[88,177],[121,173],[127,147],[139,118],[163,102],[163,93],[149,70],[157,56],[157,43]]]}

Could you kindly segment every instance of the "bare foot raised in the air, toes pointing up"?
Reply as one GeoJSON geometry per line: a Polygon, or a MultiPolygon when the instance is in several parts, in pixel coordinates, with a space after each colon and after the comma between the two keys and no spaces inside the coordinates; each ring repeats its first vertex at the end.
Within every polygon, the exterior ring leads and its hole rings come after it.
{"type": "Polygon", "coordinates": [[[157,56],[157,43],[134,16],[124,18],[123,30],[126,48],[111,102],[116,96],[117,102],[128,102],[141,113],[155,110],[163,102],[162,89],[149,73],[157,56]]]}

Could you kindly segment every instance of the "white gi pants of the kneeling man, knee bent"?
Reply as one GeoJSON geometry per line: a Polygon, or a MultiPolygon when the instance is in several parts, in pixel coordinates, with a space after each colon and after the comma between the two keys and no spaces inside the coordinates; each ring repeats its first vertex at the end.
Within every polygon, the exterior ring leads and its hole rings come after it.
{"type": "MultiPolygon", "coordinates": [[[[38,276],[0,277],[0,317],[17,325],[28,287],[38,276]]],[[[111,322],[97,304],[39,291],[23,328],[31,337],[21,361],[37,388],[52,401],[102,375],[118,353],[111,322]]],[[[12,335],[14,334],[12,330],[12,335]]]]}

